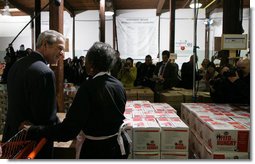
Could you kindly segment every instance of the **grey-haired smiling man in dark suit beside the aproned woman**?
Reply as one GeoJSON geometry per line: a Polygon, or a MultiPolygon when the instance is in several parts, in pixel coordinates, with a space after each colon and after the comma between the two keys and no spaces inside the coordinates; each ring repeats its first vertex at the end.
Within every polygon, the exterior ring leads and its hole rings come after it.
{"type": "MultiPolygon", "coordinates": [[[[8,111],[3,142],[19,130],[23,122],[33,125],[53,125],[58,122],[54,72],[47,64],[56,64],[63,57],[65,38],[48,30],[41,33],[36,51],[18,60],[7,79],[8,111]]],[[[38,158],[51,158],[53,142],[48,142],[38,158]]]]}

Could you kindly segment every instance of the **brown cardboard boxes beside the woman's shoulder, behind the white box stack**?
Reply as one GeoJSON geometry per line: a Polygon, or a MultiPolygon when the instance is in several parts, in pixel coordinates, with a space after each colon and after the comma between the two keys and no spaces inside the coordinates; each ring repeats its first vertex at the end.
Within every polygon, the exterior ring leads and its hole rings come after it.
{"type": "Polygon", "coordinates": [[[154,92],[150,88],[128,88],[126,89],[128,100],[147,100],[154,102],[154,92]]]}

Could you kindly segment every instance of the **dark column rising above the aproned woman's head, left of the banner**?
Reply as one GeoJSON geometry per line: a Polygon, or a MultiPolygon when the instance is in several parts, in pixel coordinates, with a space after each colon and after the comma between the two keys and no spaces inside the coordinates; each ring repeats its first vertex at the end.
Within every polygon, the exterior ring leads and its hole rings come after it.
{"type": "Polygon", "coordinates": [[[99,27],[99,37],[100,42],[105,42],[105,0],[100,0],[100,10],[99,10],[99,18],[100,18],[100,27],[99,27]]]}

